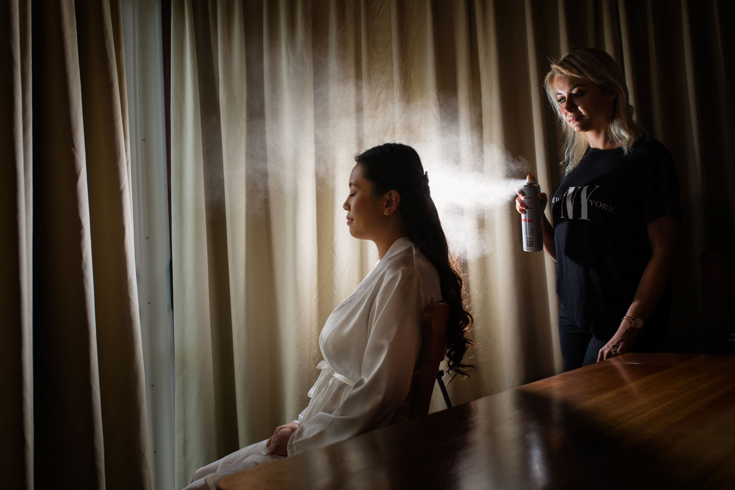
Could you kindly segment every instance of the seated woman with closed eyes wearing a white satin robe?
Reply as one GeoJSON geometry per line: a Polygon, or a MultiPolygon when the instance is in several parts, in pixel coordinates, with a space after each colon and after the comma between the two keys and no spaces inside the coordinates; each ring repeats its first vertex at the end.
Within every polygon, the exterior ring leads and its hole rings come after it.
{"type": "Polygon", "coordinates": [[[450,304],[448,369],[467,375],[462,356],[471,344],[465,333],[472,316],[418,154],[386,143],[355,161],[343,205],[347,224],[353,237],[375,243],[380,260],[326,320],[319,336],[324,360],[309,405],[270,439],[198,469],[187,489],[215,490],[225,475],[405,419],[420,317],[430,303],[450,304]]]}

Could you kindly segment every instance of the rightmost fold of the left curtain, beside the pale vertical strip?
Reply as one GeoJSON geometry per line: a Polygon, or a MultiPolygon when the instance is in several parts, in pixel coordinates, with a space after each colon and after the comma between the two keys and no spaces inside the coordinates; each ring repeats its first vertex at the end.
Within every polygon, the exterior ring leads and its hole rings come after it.
{"type": "MultiPolygon", "coordinates": [[[[119,1],[75,2],[107,488],[146,484],[148,427],[135,279],[119,1]],[[87,26],[96,26],[89,29],[87,26]],[[107,83],[100,74],[109,73],[107,83]],[[110,219],[111,216],[117,219],[110,219]],[[131,472],[130,461],[138,466],[131,472]]],[[[149,485],[149,483],[148,483],[149,485]]]]}

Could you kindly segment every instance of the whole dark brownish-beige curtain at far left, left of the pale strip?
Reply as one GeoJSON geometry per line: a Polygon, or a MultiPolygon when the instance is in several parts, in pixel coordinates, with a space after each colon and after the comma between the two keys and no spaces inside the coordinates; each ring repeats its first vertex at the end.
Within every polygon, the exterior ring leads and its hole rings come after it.
{"type": "Polygon", "coordinates": [[[120,4],[0,9],[2,485],[148,489],[120,4]]]}

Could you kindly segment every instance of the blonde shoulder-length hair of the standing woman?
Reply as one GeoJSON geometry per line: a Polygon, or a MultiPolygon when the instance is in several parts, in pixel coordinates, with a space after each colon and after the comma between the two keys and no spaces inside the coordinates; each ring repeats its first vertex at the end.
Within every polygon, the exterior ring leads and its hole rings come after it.
{"type": "Polygon", "coordinates": [[[607,138],[616,146],[622,146],[623,152],[628,154],[633,144],[646,134],[645,129],[633,120],[633,106],[628,102],[628,87],[625,85],[623,70],[615,60],[605,51],[597,48],[575,49],[564,54],[561,60],[551,62],[551,71],[546,73],[544,88],[551,107],[556,111],[564,129],[564,173],[569,173],[584,156],[589,142],[587,135],[576,132],[564,123],[564,116],[559,103],[556,101],[556,87],[554,82],[560,75],[574,76],[589,80],[597,84],[603,92],[616,93],[614,100],[614,114],[607,129],[607,138]]]}

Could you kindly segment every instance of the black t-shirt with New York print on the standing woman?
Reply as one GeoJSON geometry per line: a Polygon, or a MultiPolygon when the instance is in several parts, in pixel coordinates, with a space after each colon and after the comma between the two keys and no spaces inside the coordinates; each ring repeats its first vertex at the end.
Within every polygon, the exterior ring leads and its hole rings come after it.
{"type": "MultiPolygon", "coordinates": [[[[671,155],[656,140],[623,148],[589,148],[552,198],[556,293],[571,320],[609,339],[628,311],[651,256],[647,226],[681,220],[671,155]]],[[[667,323],[670,289],[644,330],[667,323]]]]}

